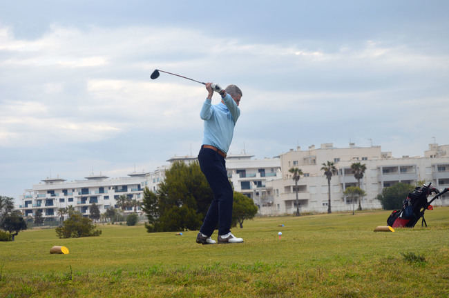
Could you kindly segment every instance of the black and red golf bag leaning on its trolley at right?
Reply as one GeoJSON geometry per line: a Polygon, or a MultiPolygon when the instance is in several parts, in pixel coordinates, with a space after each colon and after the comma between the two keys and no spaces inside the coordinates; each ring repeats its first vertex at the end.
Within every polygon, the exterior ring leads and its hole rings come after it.
{"type": "Polygon", "coordinates": [[[449,188],[445,188],[442,192],[439,192],[437,188],[431,187],[432,183],[428,186],[424,184],[422,187],[417,187],[408,194],[407,199],[403,202],[403,207],[401,210],[394,210],[390,217],[387,219],[388,226],[392,228],[413,228],[417,224],[419,219],[422,217],[421,226],[424,224],[427,227],[426,219],[424,219],[424,212],[426,210],[432,210],[432,201],[437,199],[444,193],[449,191],[449,188]],[[434,192],[437,194],[430,201],[427,201],[428,196],[434,192]]]}

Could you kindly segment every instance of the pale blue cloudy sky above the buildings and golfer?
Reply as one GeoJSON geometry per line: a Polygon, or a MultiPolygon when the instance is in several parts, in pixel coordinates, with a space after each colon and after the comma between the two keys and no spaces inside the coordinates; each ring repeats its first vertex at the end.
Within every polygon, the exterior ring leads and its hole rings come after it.
{"type": "Polygon", "coordinates": [[[196,155],[207,91],[155,68],[242,89],[234,154],[449,143],[448,1],[0,3],[0,195],[17,201],[196,155]]]}

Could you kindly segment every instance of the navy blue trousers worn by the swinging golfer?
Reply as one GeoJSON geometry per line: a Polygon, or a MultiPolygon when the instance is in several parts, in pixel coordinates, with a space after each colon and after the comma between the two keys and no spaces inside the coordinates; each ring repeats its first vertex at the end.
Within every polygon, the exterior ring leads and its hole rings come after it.
{"type": "Polygon", "coordinates": [[[213,201],[204,217],[200,232],[211,236],[218,224],[218,235],[225,235],[231,231],[233,203],[233,190],[227,177],[226,161],[209,148],[201,148],[198,161],[213,191],[213,201]]]}

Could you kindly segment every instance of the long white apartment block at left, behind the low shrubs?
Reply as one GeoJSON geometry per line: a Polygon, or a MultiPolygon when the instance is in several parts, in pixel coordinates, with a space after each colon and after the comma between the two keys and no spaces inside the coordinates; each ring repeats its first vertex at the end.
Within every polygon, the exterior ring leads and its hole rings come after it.
{"type": "MultiPolygon", "coordinates": [[[[165,177],[165,170],[158,168],[155,172],[133,172],[128,177],[112,179],[105,175],[90,175],[86,180],[75,181],[59,177],[43,179],[25,190],[19,208],[27,217],[34,217],[39,210],[46,221],[57,220],[57,210],[68,206],[88,216],[89,206],[95,203],[99,211],[104,212],[110,207],[117,208],[117,199],[121,195],[142,201],[144,188],[157,190],[165,177]]],[[[133,208],[125,212],[133,212],[133,208]]]]}

